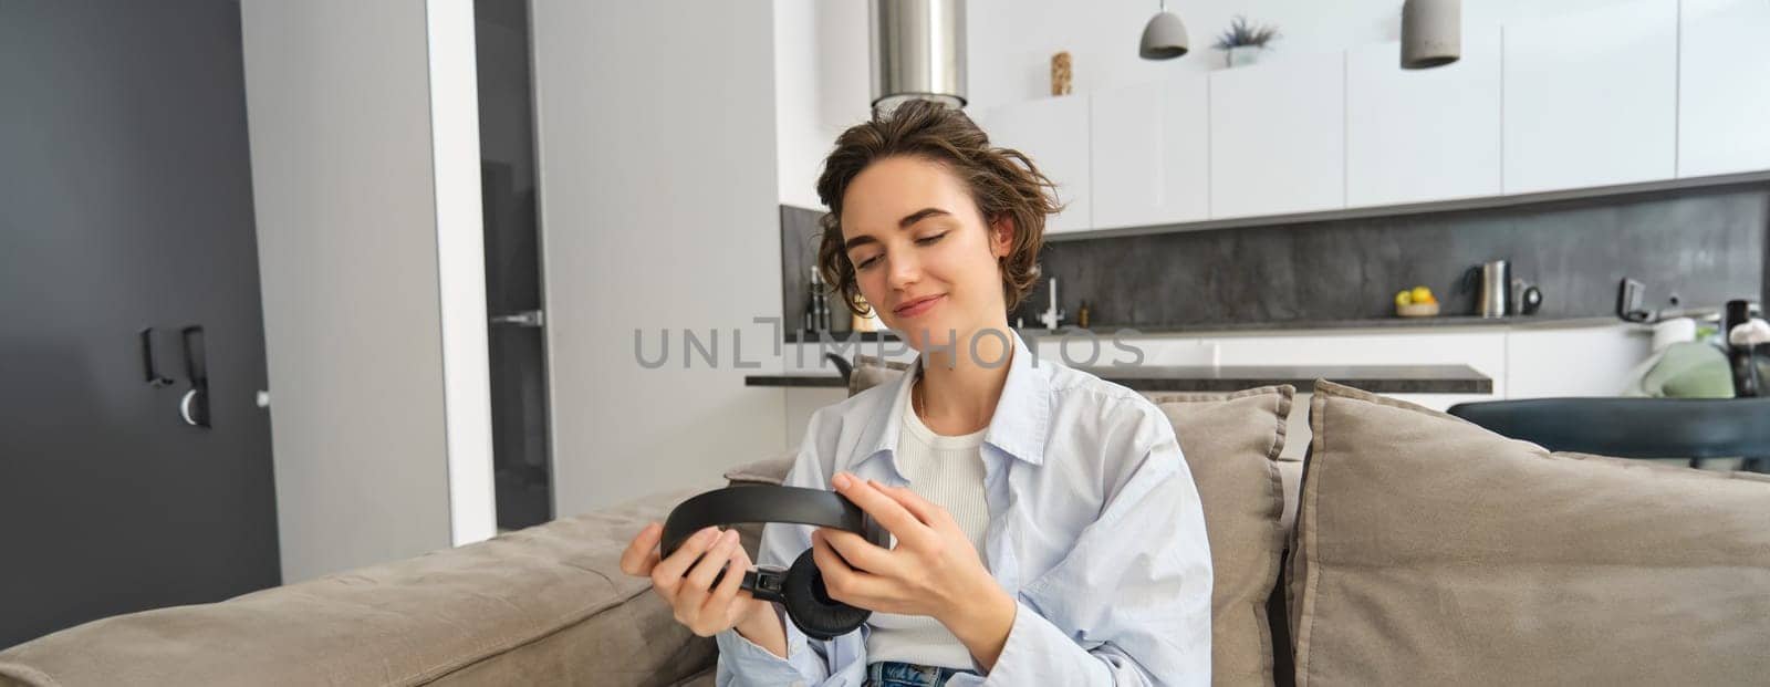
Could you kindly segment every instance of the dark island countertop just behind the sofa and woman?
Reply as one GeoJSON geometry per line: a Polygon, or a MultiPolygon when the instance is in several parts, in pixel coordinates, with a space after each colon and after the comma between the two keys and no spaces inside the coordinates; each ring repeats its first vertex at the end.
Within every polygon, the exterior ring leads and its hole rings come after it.
{"type": "MultiPolygon", "coordinates": [[[[1239,391],[1290,384],[1299,391],[1328,379],[1372,393],[1494,393],[1494,379],[1467,365],[1122,365],[1078,367],[1136,391],[1239,391]]],[[[745,386],[846,388],[835,374],[747,375],[745,386]]]]}

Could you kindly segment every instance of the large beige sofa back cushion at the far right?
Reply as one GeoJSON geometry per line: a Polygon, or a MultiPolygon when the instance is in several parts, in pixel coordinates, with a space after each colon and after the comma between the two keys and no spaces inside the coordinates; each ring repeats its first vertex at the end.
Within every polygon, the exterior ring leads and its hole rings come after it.
{"type": "Polygon", "coordinates": [[[1770,675],[1770,480],[1551,453],[1317,382],[1297,685],[1770,675]]]}

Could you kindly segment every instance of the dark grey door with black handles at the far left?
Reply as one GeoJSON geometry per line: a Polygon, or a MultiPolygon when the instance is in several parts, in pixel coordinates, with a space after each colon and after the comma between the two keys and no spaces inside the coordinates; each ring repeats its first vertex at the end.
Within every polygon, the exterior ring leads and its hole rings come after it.
{"type": "Polygon", "coordinates": [[[0,0],[0,646],[278,584],[250,172],[237,2],[0,0]]]}

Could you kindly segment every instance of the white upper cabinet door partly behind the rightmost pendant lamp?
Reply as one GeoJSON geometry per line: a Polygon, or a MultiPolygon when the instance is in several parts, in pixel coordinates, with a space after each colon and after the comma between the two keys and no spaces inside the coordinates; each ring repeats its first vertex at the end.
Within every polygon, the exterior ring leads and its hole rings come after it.
{"type": "Polygon", "coordinates": [[[1499,32],[1467,30],[1462,58],[1435,69],[1402,69],[1400,55],[1400,42],[1347,51],[1347,207],[1501,195],[1499,32]]]}

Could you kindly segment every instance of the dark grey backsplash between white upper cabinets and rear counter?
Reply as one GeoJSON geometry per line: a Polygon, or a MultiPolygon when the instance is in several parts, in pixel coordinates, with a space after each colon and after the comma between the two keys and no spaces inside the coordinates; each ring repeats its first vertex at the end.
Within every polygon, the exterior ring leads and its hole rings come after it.
{"type": "MultiPolygon", "coordinates": [[[[820,211],[781,207],[786,328],[804,322],[820,211]]],[[[1090,324],[1186,328],[1389,317],[1400,289],[1430,287],[1444,315],[1476,312],[1473,266],[1512,260],[1542,289],[1535,317],[1616,310],[1616,283],[1646,283],[1646,306],[1763,297],[1770,184],[1651,191],[1533,205],[1328,220],[1046,243],[1062,310],[1090,324]]],[[[1021,306],[1028,326],[1044,287],[1021,306]]],[[[843,310],[835,329],[846,331],[843,310]]],[[[1012,322],[1012,317],[1011,317],[1012,322]]]]}

